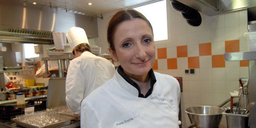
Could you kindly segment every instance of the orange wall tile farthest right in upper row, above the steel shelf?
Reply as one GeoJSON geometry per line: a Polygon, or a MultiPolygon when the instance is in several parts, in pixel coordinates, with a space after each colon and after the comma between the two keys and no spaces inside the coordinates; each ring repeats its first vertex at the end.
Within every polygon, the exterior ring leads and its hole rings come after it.
{"type": "Polygon", "coordinates": [[[225,41],[225,53],[239,52],[239,40],[225,41]]]}

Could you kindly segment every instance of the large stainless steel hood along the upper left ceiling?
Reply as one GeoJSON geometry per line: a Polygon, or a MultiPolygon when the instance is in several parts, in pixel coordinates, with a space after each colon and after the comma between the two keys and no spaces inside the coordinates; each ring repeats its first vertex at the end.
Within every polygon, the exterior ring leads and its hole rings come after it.
{"type": "Polygon", "coordinates": [[[0,43],[53,44],[52,32],[67,32],[73,26],[83,28],[88,38],[98,37],[97,17],[0,0],[0,43]]]}

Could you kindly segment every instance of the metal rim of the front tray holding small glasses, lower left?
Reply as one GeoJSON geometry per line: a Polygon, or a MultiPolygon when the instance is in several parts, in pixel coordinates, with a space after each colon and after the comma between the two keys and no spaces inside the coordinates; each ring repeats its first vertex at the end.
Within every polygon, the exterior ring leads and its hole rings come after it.
{"type": "Polygon", "coordinates": [[[63,126],[70,125],[71,120],[74,119],[74,117],[70,117],[70,116],[66,116],[66,115],[62,115],[62,114],[58,114],[58,115],[59,115],[59,121],[57,121],[55,123],[51,123],[51,124],[46,124],[45,126],[35,126],[32,124],[26,124],[26,123],[22,122],[22,119],[24,119],[26,117],[14,118],[14,119],[12,119],[12,121],[14,121],[16,123],[16,125],[22,126],[25,128],[60,128],[63,126]]]}

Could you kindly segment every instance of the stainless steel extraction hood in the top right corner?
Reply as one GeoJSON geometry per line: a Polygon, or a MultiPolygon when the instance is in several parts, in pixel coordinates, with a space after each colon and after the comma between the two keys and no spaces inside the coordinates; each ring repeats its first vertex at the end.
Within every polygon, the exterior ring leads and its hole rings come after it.
{"type": "Polygon", "coordinates": [[[256,6],[256,0],[177,0],[206,15],[217,15],[256,6]]]}

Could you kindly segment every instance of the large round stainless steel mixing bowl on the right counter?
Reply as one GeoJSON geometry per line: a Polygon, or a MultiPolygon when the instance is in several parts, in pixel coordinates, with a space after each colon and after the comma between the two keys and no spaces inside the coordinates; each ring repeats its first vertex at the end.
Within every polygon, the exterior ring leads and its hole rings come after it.
{"type": "Polygon", "coordinates": [[[222,108],[195,106],[185,110],[193,126],[197,128],[217,128],[221,123],[222,108]]]}

